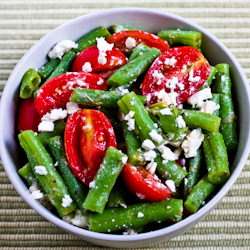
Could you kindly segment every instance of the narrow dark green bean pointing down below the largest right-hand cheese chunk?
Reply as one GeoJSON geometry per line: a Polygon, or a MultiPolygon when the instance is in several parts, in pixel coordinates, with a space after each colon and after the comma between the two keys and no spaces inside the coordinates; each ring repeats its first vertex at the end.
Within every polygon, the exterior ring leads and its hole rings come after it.
{"type": "Polygon", "coordinates": [[[200,166],[202,162],[201,149],[197,150],[197,155],[189,160],[187,182],[184,183],[184,196],[187,197],[200,176],[200,166]]]}

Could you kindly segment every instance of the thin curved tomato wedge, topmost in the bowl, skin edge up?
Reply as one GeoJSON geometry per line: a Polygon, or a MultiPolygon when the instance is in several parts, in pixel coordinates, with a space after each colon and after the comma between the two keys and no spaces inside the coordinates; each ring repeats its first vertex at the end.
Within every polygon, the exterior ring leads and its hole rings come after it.
{"type": "Polygon", "coordinates": [[[161,52],[164,52],[169,49],[168,42],[162,40],[158,36],[141,31],[141,30],[126,30],[113,34],[107,39],[107,42],[114,43],[115,47],[120,51],[128,51],[126,47],[126,39],[128,37],[134,38],[136,40],[136,45],[139,43],[144,43],[149,47],[155,47],[161,52]]]}

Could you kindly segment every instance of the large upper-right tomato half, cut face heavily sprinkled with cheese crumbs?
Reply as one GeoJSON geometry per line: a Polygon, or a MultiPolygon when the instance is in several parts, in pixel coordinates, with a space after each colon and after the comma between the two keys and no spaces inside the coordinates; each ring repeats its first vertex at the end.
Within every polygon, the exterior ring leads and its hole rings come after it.
{"type": "Polygon", "coordinates": [[[142,83],[142,94],[150,94],[148,104],[152,104],[157,102],[155,94],[158,91],[173,91],[177,93],[177,104],[180,104],[200,89],[209,74],[209,63],[199,50],[189,46],[171,48],[149,68],[142,83]],[[160,80],[159,74],[162,74],[160,80]]]}

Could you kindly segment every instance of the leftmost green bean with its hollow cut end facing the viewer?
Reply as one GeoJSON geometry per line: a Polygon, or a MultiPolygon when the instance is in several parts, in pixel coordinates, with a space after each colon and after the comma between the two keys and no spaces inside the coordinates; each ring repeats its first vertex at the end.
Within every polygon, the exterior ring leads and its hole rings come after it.
{"type": "Polygon", "coordinates": [[[20,97],[27,99],[38,89],[41,83],[41,77],[35,69],[29,69],[25,72],[20,87],[20,97]]]}

